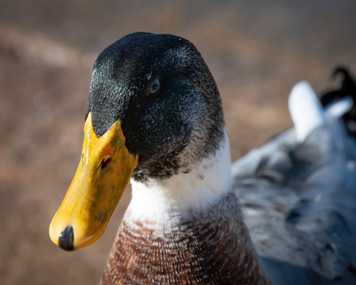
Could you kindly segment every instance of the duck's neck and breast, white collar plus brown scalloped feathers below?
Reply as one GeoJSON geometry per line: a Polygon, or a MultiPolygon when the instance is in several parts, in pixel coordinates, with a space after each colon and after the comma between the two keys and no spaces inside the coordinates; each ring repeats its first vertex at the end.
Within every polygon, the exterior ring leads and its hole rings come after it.
{"type": "Polygon", "coordinates": [[[191,172],[133,182],[100,284],[268,284],[230,167],[226,135],[191,172]]]}

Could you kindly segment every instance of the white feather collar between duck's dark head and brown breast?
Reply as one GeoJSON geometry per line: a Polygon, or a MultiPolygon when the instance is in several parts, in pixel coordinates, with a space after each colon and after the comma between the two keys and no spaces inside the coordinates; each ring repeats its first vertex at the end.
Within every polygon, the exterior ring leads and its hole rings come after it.
{"type": "Polygon", "coordinates": [[[173,216],[185,216],[216,203],[232,190],[229,138],[220,149],[196,165],[189,173],[179,172],[162,181],[150,181],[150,186],[131,179],[132,199],[127,218],[135,221],[162,221],[173,216]]]}

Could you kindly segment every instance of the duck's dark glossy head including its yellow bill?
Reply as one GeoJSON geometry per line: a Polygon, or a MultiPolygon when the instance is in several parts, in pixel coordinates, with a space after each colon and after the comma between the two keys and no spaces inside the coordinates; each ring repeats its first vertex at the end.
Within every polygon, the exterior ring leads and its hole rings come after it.
{"type": "Polygon", "coordinates": [[[173,35],[133,33],[93,67],[79,166],[49,235],[64,250],[104,233],[130,177],[189,173],[224,137],[221,99],[200,53],[173,35]]]}

